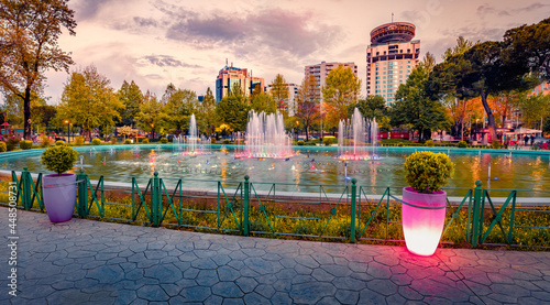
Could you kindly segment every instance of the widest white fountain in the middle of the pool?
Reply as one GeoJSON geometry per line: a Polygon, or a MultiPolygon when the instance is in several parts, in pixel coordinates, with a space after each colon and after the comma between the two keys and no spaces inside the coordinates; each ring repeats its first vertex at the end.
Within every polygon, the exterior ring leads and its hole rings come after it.
{"type": "Polygon", "coordinates": [[[283,115],[249,112],[246,142],[235,156],[287,159],[293,155],[290,138],[285,132],[283,115]]]}

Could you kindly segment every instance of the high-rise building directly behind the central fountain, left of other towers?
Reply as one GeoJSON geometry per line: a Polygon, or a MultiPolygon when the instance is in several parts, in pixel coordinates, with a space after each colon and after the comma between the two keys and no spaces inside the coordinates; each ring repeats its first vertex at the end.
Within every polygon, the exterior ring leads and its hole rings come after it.
{"type": "Polygon", "coordinates": [[[216,78],[216,101],[219,102],[227,97],[234,84],[241,87],[245,96],[250,96],[257,86],[260,86],[262,92],[265,88],[264,78],[253,77],[252,72],[249,74],[246,68],[233,67],[233,63],[228,66],[226,62],[226,66],[220,69],[216,78]]]}

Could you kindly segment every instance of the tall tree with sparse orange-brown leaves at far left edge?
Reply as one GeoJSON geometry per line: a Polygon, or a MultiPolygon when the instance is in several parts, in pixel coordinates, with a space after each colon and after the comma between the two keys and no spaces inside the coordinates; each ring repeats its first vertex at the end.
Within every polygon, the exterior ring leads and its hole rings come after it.
{"type": "Polygon", "coordinates": [[[68,0],[0,0],[0,87],[23,100],[24,133],[31,140],[31,98],[40,94],[47,69],[68,73],[73,64],[57,40],[65,28],[75,35],[68,0]]]}

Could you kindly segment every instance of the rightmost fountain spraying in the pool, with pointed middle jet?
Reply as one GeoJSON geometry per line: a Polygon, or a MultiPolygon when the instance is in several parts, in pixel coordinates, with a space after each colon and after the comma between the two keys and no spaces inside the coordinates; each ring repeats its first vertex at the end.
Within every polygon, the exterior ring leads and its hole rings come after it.
{"type": "Polygon", "coordinates": [[[341,160],[377,160],[378,124],[366,121],[358,108],[351,120],[340,120],[338,128],[338,155],[341,160]]]}

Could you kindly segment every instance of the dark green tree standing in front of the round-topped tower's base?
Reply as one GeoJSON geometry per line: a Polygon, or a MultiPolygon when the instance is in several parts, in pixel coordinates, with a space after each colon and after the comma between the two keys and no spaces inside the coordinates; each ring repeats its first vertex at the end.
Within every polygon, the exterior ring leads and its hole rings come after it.
{"type": "Polygon", "coordinates": [[[420,140],[431,138],[431,131],[447,127],[447,117],[442,105],[430,99],[426,91],[429,73],[422,64],[410,73],[407,83],[399,86],[396,101],[391,108],[393,126],[411,124],[420,140]]]}

